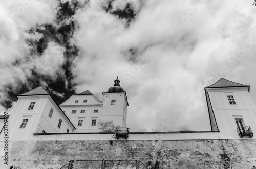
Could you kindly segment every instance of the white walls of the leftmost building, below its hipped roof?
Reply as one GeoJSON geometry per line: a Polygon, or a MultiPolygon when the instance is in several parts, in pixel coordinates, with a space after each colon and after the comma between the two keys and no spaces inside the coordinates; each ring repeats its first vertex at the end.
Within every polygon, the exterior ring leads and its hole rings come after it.
{"type": "Polygon", "coordinates": [[[70,132],[75,129],[48,93],[18,95],[17,98],[8,119],[10,139],[25,140],[33,133],[66,133],[68,129],[70,132]]]}

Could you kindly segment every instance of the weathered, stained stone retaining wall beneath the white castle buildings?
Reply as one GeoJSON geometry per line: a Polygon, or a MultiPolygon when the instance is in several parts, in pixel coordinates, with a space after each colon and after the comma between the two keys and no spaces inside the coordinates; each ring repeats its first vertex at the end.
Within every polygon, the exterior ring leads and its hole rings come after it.
{"type": "Polygon", "coordinates": [[[160,168],[252,168],[256,140],[116,140],[113,145],[109,141],[14,141],[9,142],[8,153],[9,165],[1,156],[0,168],[60,168],[69,160],[103,159],[141,160],[160,168]]]}

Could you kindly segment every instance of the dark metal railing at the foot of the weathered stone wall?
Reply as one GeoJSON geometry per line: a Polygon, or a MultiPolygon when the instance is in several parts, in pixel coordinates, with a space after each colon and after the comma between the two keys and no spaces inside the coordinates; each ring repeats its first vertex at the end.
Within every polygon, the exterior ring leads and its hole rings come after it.
{"type": "Polygon", "coordinates": [[[147,169],[140,160],[70,160],[62,169],[147,169]]]}

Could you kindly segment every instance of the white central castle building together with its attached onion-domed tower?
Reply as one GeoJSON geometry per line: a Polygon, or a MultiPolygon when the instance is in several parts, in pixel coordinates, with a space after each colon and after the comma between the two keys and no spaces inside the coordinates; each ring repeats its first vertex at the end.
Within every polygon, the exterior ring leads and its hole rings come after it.
{"type": "Polygon", "coordinates": [[[126,127],[128,101],[119,82],[116,79],[114,87],[102,93],[103,101],[87,90],[59,105],[75,125],[74,133],[100,132],[97,126],[100,120],[113,120],[116,126],[126,127]]]}

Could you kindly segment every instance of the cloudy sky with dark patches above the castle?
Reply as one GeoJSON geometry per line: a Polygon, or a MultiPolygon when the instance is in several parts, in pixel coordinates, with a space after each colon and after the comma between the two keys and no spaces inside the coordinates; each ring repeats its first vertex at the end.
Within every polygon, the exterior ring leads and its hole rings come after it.
{"type": "Polygon", "coordinates": [[[118,74],[131,131],[210,130],[204,87],[221,77],[256,103],[253,2],[1,1],[0,113],[39,85],[102,100],[118,74]]]}

